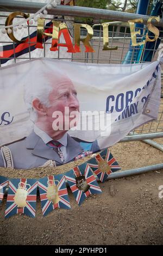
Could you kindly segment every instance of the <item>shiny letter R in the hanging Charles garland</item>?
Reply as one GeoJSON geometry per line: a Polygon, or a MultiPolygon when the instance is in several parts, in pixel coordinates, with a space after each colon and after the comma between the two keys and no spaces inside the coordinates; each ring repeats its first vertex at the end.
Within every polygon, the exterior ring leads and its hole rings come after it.
{"type": "Polygon", "coordinates": [[[91,47],[89,41],[93,36],[93,29],[91,26],[86,24],[74,24],[74,49],[76,52],[80,52],[80,41],[83,42],[85,46],[85,52],[95,52],[91,47]],[[80,38],[80,27],[86,28],[87,36],[86,38],[80,38]]]}

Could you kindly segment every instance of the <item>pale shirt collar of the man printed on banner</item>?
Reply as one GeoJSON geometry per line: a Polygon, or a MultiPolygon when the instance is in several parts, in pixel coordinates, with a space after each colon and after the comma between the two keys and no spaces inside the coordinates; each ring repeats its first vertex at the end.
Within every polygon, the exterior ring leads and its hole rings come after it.
{"type": "MultiPolygon", "coordinates": [[[[36,135],[38,135],[42,139],[42,141],[45,144],[47,144],[49,141],[53,141],[53,139],[45,131],[41,130],[36,125],[34,125],[34,132],[36,133],[36,135]]],[[[64,145],[64,147],[66,147],[67,146],[67,133],[65,133],[64,136],[62,136],[57,141],[60,142],[62,145],[64,145]]]]}

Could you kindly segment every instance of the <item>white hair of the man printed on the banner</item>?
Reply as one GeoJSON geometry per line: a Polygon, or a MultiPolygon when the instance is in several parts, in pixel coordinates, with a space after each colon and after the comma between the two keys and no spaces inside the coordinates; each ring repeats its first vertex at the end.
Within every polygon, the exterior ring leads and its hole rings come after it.
{"type": "Polygon", "coordinates": [[[33,122],[37,118],[37,113],[32,105],[35,98],[39,99],[46,107],[50,106],[48,96],[53,88],[48,76],[52,76],[52,74],[49,72],[42,73],[42,71],[38,69],[33,70],[28,73],[28,83],[24,83],[24,101],[30,113],[30,119],[33,122]]]}

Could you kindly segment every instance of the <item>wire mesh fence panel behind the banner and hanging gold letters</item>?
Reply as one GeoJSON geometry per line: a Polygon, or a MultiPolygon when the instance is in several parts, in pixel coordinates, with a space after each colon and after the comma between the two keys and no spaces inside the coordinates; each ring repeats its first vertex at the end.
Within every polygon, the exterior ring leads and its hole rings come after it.
{"type": "MultiPolygon", "coordinates": [[[[4,27],[5,20],[7,19],[8,12],[0,13],[0,29],[4,27]]],[[[22,17],[16,17],[14,22],[22,19],[22,17]]],[[[48,15],[46,17],[46,28],[52,28],[52,25],[49,25],[49,22],[52,20],[59,20],[61,22],[66,22],[68,30],[72,36],[73,42],[73,23],[76,20],[73,17],[61,17],[57,15],[48,15]]],[[[13,23],[14,23],[13,22],[13,23]]],[[[83,21],[81,22],[83,23],[83,21]]],[[[58,47],[58,51],[50,51],[52,45],[52,38],[48,40],[43,39],[43,49],[35,48],[36,44],[36,29],[37,22],[34,22],[33,25],[28,25],[28,28],[17,29],[14,32],[16,38],[21,40],[22,38],[27,37],[28,42],[26,43],[26,47],[23,48],[22,53],[18,56],[17,51],[21,51],[17,47],[17,43],[13,42],[7,34],[1,33],[0,38],[0,52],[1,52],[1,66],[9,65],[12,63],[21,62],[27,59],[34,59],[39,57],[45,58],[57,58],[57,59],[66,59],[72,62],[86,62],[86,63],[108,63],[108,64],[129,64],[129,63],[141,63],[149,61],[149,58],[146,60],[145,56],[150,56],[150,61],[153,62],[158,59],[159,55],[159,45],[162,43],[162,37],[159,36],[158,41],[155,41],[153,44],[153,48],[147,47],[147,45],[143,45],[140,48],[137,46],[131,46],[131,34],[129,23],[121,22],[121,21],[113,21],[109,22],[108,26],[108,34],[109,34],[109,47],[117,47],[117,50],[108,50],[104,51],[104,42],[103,42],[103,27],[102,22],[98,24],[92,25],[93,28],[93,36],[90,41],[91,46],[95,52],[85,52],[85,46],[80,42],[80,50],[78,53],[70,53],[67,52],[67,47],[58,47]],[[33,36],[32,36],[33,35],[33,36]],[[5,47],[13,49],[13,54],[10,57],[5,57],[3,55],[3,51],[5,51],[5,47]],[[24,52],[23,52],[24,51],[24,52]],[[128,57],[127,57],[128,54],[128,57]],[[140,56],[139,56],[140,55],[140,56]],[[3,61],[5,60],[5,62],[3,61]]],[[[139,29],[139,27],[137,27],[139,29]]],[[[144,25],[144,28],[140,37],[137,37],[137,42],[143,40],[146,35],[147,27],[144,25]]],[[[160,35],[162,35],[163,31],[160,31],[160,35]]],[[[82,28],[80,30],[80,36],[85,37],[87,35],[86,29],[82,28]]],[[[151,36],[151,39],[154,36],[151,36]]],[[[60,42],[65,42],[63,37],[60,37],[60,42]]],[[[163,84],[163,80],[161,80],[163,84]]],[[[161,87],[161,96],[163,96],[163,86],[161,87]]],[[[160,99],[160,109],[158,114],[158,119],[152,121],[148,124],[142,125],[139,128],[135,129],[131,133],[156,133],[163,131],[163,98],[160,99]]]]}

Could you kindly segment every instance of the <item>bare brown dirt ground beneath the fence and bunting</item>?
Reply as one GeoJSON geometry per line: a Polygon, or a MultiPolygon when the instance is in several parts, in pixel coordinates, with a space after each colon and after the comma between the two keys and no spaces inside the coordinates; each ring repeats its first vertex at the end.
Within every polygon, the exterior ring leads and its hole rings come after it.
{"type": "MultiPolygon", "coordinates": [[[[163,139],[157,139],[163,144],[163,139]]],[[[122,170],[162,163],[163,154],[144,142],[117,143],[110,148],[122,170]]],[[[78,160],[78,164],[85,162],[78,160]]],[[[58,173],[74,163],[59,167],[58,173]]],[[[52,169],[30,171],[0,168],[8,177],[40,178],[52,169]]],[[[58,209],[42,216],[37,199],[36,217],[16,215],[4,219],[0,206],[1,245],[161,245],[163,244],[163,169],[99,184],[103,193],[90,196],[79,207],[69,191],[71,210],[58,209]],[[113,193],[110,191],[113,190],[113,193]]]]}

